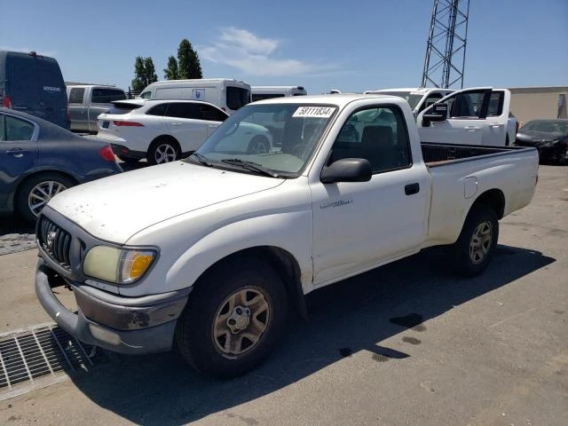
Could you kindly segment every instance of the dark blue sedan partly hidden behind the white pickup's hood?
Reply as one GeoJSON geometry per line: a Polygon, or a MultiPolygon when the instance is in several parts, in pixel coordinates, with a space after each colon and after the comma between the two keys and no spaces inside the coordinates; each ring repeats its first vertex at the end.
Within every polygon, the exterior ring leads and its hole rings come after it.
{"type": "Polygon", "coordinates": [[[108,144],[0,107],[0,212],[35,222],[57,193],[121,171],[108,144]]]}

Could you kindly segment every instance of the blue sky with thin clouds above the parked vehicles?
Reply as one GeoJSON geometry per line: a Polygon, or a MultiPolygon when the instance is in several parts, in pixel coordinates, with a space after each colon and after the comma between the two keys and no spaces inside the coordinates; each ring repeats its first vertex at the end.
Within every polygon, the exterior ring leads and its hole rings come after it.
{"type": "MultiPolygon", "coordinates": [[[[414,87],[433,0],[133,2],[19,0],[0,49],[52,56],[66,81],[128,89],[139,55],[156,73],[187,38],[204,77],[365,91],[414,87]]],[[[568,85],[568,0],[471,0],[464,87],[568,85]]]]}

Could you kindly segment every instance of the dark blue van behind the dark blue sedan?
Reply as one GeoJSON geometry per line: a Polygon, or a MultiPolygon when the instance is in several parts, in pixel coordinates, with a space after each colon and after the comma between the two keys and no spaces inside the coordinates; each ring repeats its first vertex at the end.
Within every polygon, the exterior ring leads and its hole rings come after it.
{"type": "Polygon", "coordinates": [[[69,129],[67,92],[57,60],[35,51],[0,51],[0,106],[69,129]]]}

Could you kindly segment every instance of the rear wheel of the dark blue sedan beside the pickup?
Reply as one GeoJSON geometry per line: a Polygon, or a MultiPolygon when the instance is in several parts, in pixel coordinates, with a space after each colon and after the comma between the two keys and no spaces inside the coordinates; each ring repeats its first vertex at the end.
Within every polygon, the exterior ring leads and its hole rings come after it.
{"type": "Polygon", "coordinates": [[[57,173],[40,173],[28,177],[18,189],[18,212],[28,223],[35,224],[41,209],[53,196],[75,185],[70,177],[57,173]]]}

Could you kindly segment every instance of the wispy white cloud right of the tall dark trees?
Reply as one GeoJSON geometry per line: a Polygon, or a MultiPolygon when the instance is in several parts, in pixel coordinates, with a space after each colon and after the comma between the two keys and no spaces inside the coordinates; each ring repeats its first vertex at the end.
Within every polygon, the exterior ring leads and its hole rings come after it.
{"type": "Polygon", "coordinates": [[[201,58],[239,69],[247,75],[319,74],[336,69],[334,65],[319,65],[300,59],[281,59],[281,41],[261,38],[241,28],[225,28],[212,44],[198,47],[201,58]]]}

